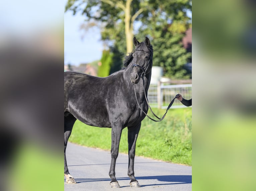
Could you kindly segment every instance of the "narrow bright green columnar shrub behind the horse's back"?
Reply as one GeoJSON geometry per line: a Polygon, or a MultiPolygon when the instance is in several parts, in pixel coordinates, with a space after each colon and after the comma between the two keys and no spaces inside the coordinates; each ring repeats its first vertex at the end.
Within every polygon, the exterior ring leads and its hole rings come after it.
{"type": "Polygon", "coordinates": [[[98,69],[99,77],[109,76],[112,57],[113,57],[113,53],[110,53],[109,50],[103,50],[101,61],[100,61],[101,65],[99,66],[99,69],[98,69]]]}

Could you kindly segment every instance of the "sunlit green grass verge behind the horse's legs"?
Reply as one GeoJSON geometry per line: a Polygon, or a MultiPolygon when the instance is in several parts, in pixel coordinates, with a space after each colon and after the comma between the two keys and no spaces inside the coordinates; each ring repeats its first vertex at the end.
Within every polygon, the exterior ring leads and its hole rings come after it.
{"type": "MultiPolygon", "coordinates": [[[[164,109],[153,108],[158,116],[164,109]]],[[[161,122],[142,121],[136,156],[191,165],[192,111],[190,107],[170,109],[161,122]]],[[[111,128],[99,128],[76,121],[69,141],[88,147],[111,149],[111,128]]],[[[128,153],[127,128],[122,132],[119,152],[128,153]]]]}

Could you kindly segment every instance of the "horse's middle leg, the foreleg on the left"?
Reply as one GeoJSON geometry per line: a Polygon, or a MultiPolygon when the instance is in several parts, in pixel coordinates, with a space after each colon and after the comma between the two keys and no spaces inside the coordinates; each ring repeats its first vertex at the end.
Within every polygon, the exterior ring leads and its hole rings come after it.
{"type": "Polygon", "coordinates": [[[121,133],[122,133],[121,126],[112,126],[112,130],[111,130],[111,164],[110,164],[110,170],[109,170],[109,176],[111,178],[110,186],[112,188],[120,187],[120,185],[118,184],[118,181],[116,180],[115,166],[116,166],[116,159],[118,157],[121,133]]]}

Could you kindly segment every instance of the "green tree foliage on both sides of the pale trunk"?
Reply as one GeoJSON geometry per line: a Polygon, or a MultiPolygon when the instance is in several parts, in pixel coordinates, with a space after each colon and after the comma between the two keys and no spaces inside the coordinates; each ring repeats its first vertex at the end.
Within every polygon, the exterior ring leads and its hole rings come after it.
{"type": "MultiPolygon", "coordinates": [[[[102,40],[108,44],[114,54],[111,72],[119,70],[123,65],[123,56],[126,52],[126,34],[124,26],[124,11],[118,2],[106,0],[68,0],[66,11],[74,14],[82,11],[88,22],[101,22],[102,40]],[[106,3],[109,2],[109,3],[106,3]],[[113,5],[110,5],[112,2],[113,5]]],[[[153,65],[161,66],[164,75],[172,79],[188,79],[191,73],[184,69],[184,65],[191,59],[181,43],[185,31],[191,27],[186,10],[191,10],[191,0],[133,0],[131,16],[140,8],[143,11],[134,20],[137,39],[149,37],[154,45],[153,65]]],[[[132,23],[133,24],[133,23],[132,23]]],[[[141,40],[140,40],[141,41],[141,40]]]]}

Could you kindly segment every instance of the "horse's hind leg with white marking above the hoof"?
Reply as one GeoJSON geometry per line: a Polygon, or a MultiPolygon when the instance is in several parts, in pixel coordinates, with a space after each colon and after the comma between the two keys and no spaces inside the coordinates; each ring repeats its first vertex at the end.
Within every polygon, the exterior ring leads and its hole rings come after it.
{"type": "Polygon", "coordinates": [[[67,148],[68,140],[76,120],[77,119],[72,114],[68,114],[64,116],[64,175],[66,176],[66,182],[68,184],[77,183],[74,177],[71,176],[69,173],[67,159],[66,159],[66,148],[67,148]]]}

